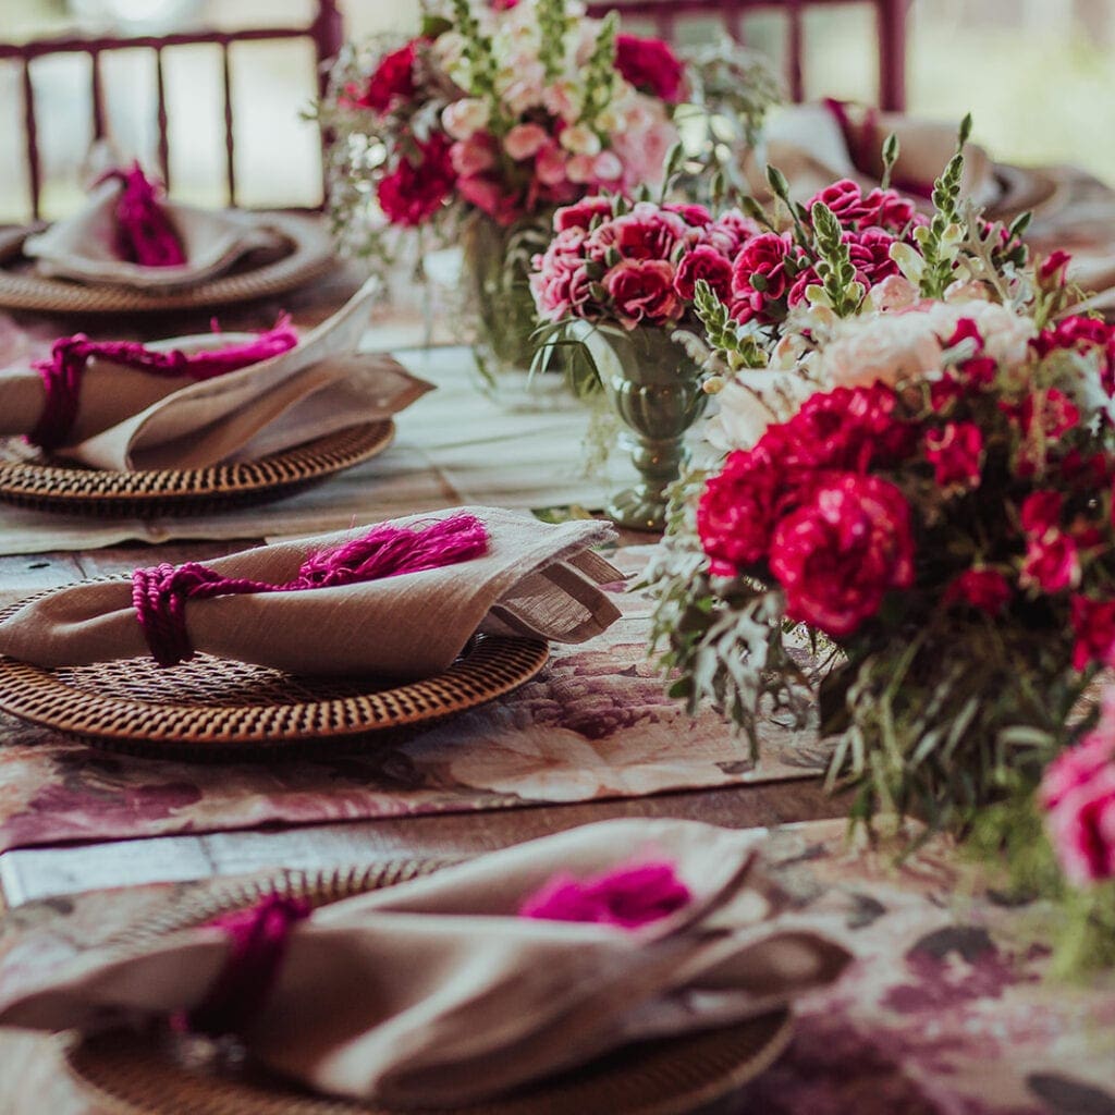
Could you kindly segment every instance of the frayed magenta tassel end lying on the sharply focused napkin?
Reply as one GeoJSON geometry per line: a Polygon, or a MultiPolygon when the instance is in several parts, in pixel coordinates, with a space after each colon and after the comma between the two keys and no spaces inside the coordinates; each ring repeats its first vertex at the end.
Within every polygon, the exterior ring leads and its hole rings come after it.
{"type": "Polygon", "coordinates": [[[440,569],[477,558],[486,549],[487,531],[475,515],[452,515],[418,531],[385,523],[337,550],[308,558],[299,570],[299,586],[351,584],[440,569]]]}

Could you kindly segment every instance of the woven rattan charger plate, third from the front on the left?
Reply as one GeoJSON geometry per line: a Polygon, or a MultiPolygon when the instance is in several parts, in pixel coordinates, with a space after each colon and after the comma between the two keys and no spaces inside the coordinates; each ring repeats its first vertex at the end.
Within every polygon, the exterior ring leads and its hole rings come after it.
{"type": "Polygon", "coordinates": [[[84,468],[45,457],[22,439],[0,438],[0,501],[72,515],[204,515],[291,495],[377,456],[394,437],[395,425],[385,419],[258,460],[136,472],[84,468]]]}

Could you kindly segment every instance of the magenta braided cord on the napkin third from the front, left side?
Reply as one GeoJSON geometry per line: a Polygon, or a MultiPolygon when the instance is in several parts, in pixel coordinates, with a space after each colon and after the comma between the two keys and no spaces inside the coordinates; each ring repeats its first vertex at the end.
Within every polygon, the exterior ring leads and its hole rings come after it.
{"type": "Polygon", "coordinates": [[[77,423],[81,400],[81,380],[94,357],[110,360],[125,368],[135,368],[152,376],[188,376],[191,379],[213,379],[239,368],[269,360],[298,343],[290,314],[279,316],[273,329],[259,333],[250,341],[226,345],[210,352],[161,352],[138,341],[90,341],[85,333],[62,337],[55,341],[49,360],[38,360],[32,367],[42,379],[47,401],[35,429],[27,435],[32,445],[56,449],[66,445],[77,423]]]}

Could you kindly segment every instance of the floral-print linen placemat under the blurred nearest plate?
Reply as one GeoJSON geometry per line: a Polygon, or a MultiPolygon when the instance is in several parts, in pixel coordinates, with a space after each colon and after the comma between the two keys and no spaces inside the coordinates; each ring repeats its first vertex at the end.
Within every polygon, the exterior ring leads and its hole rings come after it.
{"type": "MultiPolygon", "coordinates": [[[[885,849],[850,850],[845,831],[843,820],[811,821],[772,830],[764,842],[766,867],[795,900],[796,922],[841,937],[859,960],[836,988],[798,1005],[789,1049],[746,1087],[737,1109],[1113,1109],[1115,985],[1047,979],[1048,950],[1029,933],[1038,911],[996,901],[943,841],[896,864],[885,849]]],[[[244,882],[156,883],[29,903],[0,922],[0,985],[33,979],[45,966],[244,882]]],[[[69,1082],[55,1043],[4,1031],[0,1111],[95,1109],[69,1082]]]]}

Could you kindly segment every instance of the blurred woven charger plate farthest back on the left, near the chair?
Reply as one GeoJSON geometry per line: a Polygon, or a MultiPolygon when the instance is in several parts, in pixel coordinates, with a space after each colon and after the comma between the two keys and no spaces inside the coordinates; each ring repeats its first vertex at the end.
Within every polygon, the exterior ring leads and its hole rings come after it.
{"type": "Polygon", "coordinates": [[[237,266],[196,287],[177,290],[136,290],[52,279],[28,270],[20,251],[27,235],[4,237],[0,244],[0,307],[37,310],[40,313],[146,313],[167,310],[210,310],[234,302],[285,294],[320,279],[333,266],[329,233],[314,217],[289,213],[261,214],[285,240],[279,258],[274,252],[246,256],[237,266]]]}

